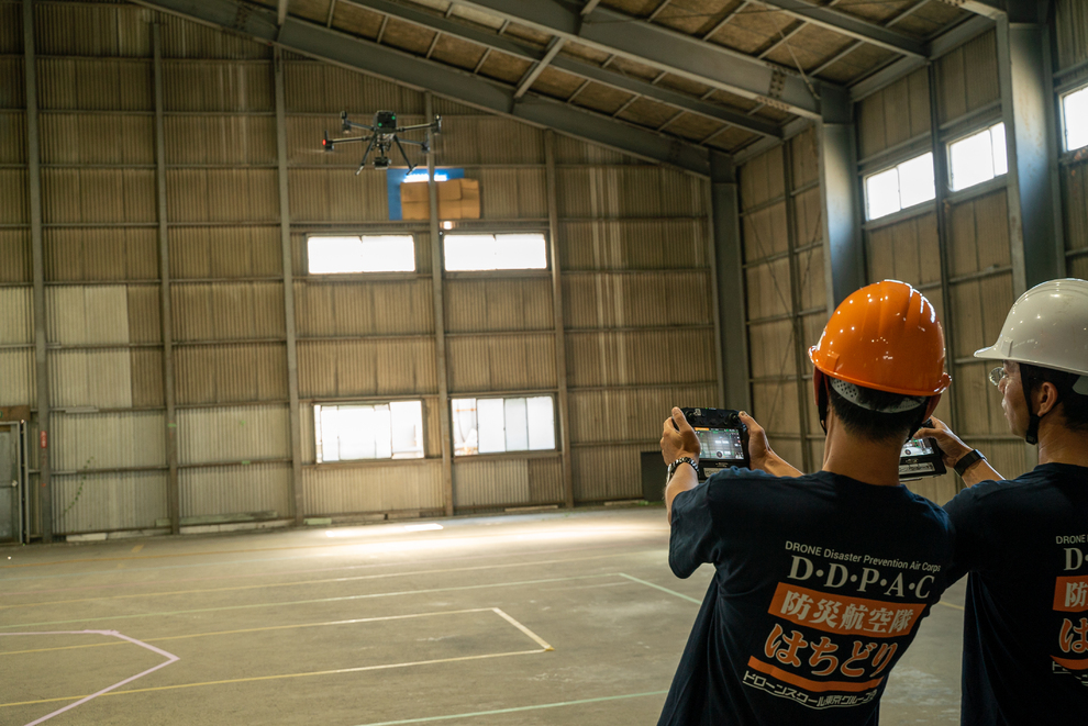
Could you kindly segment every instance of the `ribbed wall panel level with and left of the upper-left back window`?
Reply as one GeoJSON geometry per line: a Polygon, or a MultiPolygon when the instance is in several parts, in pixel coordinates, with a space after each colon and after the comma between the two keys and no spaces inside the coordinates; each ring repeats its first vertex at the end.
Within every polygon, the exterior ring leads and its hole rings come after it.
{"type": "Polygon", "coordinates": [[[275,226],[175,227],[169,244],[170,275],[177,280],[284,273],[275,226]]]}

